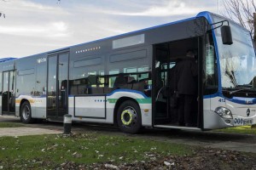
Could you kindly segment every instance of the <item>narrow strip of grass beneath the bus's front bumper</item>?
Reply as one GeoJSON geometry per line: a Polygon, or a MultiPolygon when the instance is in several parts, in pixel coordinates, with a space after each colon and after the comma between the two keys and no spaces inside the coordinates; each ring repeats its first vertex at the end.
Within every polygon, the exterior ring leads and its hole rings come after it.
{"type": "Polygon", "coordinates": [[[216,130],[218,132],[224,133],[247,133],[247,134],[256,134],[256,128],[251,126],[242,126],[242,127],[229,127],[224,129],[216,130]]]}

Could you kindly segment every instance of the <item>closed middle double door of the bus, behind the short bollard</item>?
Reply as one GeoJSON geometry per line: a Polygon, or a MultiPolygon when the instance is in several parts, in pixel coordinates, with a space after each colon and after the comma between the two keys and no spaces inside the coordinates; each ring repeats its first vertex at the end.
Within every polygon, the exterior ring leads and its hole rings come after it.
{"type": "Polygon", "coordinates": [[[49,56],[47,86],[47,116],[67,114],[68,53],[49,56]]]}

